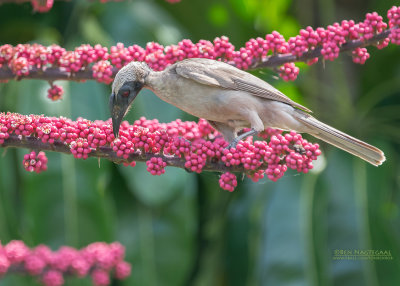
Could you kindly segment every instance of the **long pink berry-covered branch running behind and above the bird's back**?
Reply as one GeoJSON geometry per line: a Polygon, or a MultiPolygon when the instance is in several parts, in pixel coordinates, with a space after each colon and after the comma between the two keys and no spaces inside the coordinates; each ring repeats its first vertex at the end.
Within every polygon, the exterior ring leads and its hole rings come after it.
{"type": "MultiPolygon", "coordinates": [[[[387,13],[390,34],[373,44],[384,48],[389,41],[400,44],[400,7],[393,6],[387,13]]],[[[197,43],[185,39],[177,45],[162,46],[150,42],[145,48],[138,45],[125,47],[118,43],[109,50],[101,45],[81,45],[73,51],[51,45],[48,47],[38,44],[0,46],[0,80],[8,80],[12,76],[1,76],[1,67],[9,69],[13,76],[29,76],[35,69],[46,71],[48,68],[58,68],[68,74],[68,79],[96,79],[109,84],[115,72],[131,61],[145,61],[153,70],[163,70],[168,65],[185,58],[209,58],[228,62],[240,69],[257,68],[271,57],[293,55],[279,68],[279,74],[284,80],[295,80],[299,68],[293,61],[302,60],[302,56],[317,48],[320,53],[315,58],[305,58],[311,65],[318,61],[318,56],[325,60],[334,60],[339,56],[341,47],[349,41],[358,42],[352,53],[354,62],[363,64],[369,54],[363,47],[371,44],[371,38],[383,33],[387,24],[376,12],[368,13],[365,20],[355,23],[353,20],[334,23],[326,28],[301,29],[299,35],[289,38],[288,41],[274,31],[264,38],[250,39],[244,47],[235,50],[227,37],[215,38],[213,42],[200,40],[197,43]],[[89,74],[77,75],[81,71],[91,71],[89,74]],[[83,78],[82,78],[83,77],[83,78]]]]}

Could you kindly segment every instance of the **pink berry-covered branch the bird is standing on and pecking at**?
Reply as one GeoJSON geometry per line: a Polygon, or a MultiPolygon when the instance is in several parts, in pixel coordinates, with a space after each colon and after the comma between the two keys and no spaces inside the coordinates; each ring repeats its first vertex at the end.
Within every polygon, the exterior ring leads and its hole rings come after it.
{"type": "MultiPolygon", "coordinates": [[[[10,139],[18,143],[24,138],[37,138],[43,143],[42,149],[52,150],[52,144],[57,143],[63,146],[62,152],[71,152],[75,158],[87,159],[93,151],[96,155],[108,152],[108,158],[117,158],[118,162],[132,167],[134,160],[146,161],[152,175],[163,174],[167,165],[197,173],[206,166],[216,171],[223,166],[223,170],[231,168],[244,172],[254,181],[264,174],[276,181],[288,168],[307,173],[313,168],[312,161],[321,154],[318,144],[307,142],[294,131],[283,134],[268,128],[260,133],[260,137],[266,141],[248,137],[236,148],[226,149],[228,142],[204,119],[198,123],[179,119],[159,123],[156,119],[142,117],[133,125],[122,122],[116,139],[111,120],[92,122],[78,118],[72,121],[63,117],[0,113],[0,145],[7,145],[10,139]],[[10,138],[13,134],[17,136],[10,138]],[[148,159],[149,155],[151,159],[148,159]],[[180,163],[177,164],[176,159],[180,163]]],[[[44,160],[47,162],[42,152],[38,156],[33,152],[26,155],[24,166],[29,171],[42,170],[46,166],[44,160]]],[[[233,186],[230,181],[224,182],[233,186]]]]}

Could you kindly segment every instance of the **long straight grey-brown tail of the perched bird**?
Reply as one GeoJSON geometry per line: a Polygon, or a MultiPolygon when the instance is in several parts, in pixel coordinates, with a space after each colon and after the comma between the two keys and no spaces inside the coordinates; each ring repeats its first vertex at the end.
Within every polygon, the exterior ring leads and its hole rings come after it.
{"type": "Polygon", "coordinates": [[[385,154],[378,148],[322,123],[303,111],[296,110],[295,113],[296,118],[307,127],[307,132],[311,135],[358,156],[374,166],[379,166],[386,160],[385,154]]]}

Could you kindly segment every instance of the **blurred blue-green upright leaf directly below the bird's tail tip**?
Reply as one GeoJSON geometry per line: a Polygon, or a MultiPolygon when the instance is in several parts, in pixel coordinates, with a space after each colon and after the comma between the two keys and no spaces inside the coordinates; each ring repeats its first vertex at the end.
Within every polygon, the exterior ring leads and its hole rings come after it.
{"type": "Polygon", "coordinates": [[[361,242],[362,213],[357,205],[355,176],[351,155],[333,150],[327,157],[328,165],[323,175],[328,191],[327,249],[333,285],[365,285],[365,262],[362,260],[334,260],[335,251],[363,249],[361,242]]]}

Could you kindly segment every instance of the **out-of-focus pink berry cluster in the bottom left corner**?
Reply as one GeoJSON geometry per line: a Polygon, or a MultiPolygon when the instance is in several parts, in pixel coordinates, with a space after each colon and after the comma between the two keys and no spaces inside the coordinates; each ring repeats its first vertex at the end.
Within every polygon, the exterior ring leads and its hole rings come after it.
{"type": "Polygon", "coordinates": [[[36,277],[46,286],[64,284],[65,276],[91,276],[94,285],[109,285],[110,275],[125,279],[131,266],[124,261],[125,248],[118,242],[95,242],[82,249],[63,246],[51,251],[45,245],[30,249],[22,241],[0,244],[0,277],[7,273],[24,273],[36,277]]]}

